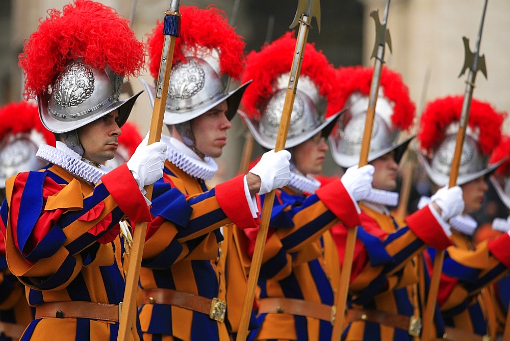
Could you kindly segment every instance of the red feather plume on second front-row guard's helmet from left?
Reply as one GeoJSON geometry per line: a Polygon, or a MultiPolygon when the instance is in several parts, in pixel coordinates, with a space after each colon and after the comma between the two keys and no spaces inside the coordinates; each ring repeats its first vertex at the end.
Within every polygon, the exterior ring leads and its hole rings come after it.
{"type": "MultiPolygon", "coordinates": [[[[184,53],[189,47],[216,48],[220,54],[221,74],[235,80],[241,78],[244,64],[244,46],[234,28],[228,25],[226,14],[214,5],[207,9],[196,6],[181,6],[181,37],[175,40],[172,65],[186,61],[184,53]]],[[[148,35],[147,51],[149,71],[153,78],[158,78],[163,51],[163,22],[156,23],[156,28],[148,35]]],[[[195,49],[196,51],[196,49],[195,49]]]]}

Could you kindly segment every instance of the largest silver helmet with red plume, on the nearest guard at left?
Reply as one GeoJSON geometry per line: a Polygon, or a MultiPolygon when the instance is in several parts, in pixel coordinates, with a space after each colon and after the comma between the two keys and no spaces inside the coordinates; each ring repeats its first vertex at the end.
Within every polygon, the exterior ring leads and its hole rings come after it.
{"type": "Polygon", "coordinates": [[[25,98],[37,99],[43,125],[79,154],[76,129],[116,109],[122,126],[141,93],[119,100],[123,78],[137,76],[144,63],[128,22],[111,7],[76,0],[49,10],[19,55],[25,98]]]}

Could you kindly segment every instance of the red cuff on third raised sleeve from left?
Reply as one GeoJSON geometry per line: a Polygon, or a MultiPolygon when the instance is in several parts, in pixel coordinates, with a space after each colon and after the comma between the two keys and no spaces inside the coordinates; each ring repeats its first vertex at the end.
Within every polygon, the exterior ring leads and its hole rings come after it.
{"type": "Polygon", "coordinates": [[[360,215],[342,181],[336,179],[315,191],[317,197],[333,212],[345,227],[361,225],[360,215]]]}

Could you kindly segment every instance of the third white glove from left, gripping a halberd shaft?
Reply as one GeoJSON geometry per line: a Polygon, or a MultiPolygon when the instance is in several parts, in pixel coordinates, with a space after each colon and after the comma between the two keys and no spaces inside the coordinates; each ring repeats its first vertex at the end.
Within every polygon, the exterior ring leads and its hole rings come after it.
{"type": "Polygon", "coordinates": [[[340,180],[354,201],[366,199],[372,190],[375,168],[371,164],[358,168],[358,165],[347,168],[340,180]]]}

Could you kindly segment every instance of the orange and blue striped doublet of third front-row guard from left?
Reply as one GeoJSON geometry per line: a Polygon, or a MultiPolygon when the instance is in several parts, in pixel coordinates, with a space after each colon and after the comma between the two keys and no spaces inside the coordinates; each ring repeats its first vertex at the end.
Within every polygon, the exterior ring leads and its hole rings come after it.
{"type": "MultiPolygon", "coordinates": [[[[309,196],[287,187],[276,190],[258,282],[261,327],[250,339],[331,338],[340,265],[329,229],[339,221],[347,227],[360,224],[340,179],[309,196]],[[325,312],[322,318],[319,310],[325,312]]],[[[249,234],[252,253],[256,235],[249,234]]]]}

